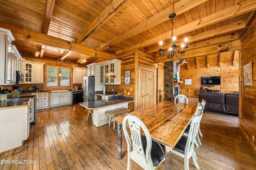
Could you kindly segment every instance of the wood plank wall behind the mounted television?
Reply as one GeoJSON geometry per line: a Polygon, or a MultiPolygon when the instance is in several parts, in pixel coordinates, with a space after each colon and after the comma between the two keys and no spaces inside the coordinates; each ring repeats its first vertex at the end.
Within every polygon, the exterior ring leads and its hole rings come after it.
{"type": "Polygon", "coordinates": [[[180,78],[183,78],[183,82],[185,79],[192,79],[192,84],[183,83],[181,93],[189,97],[198,97],[200,87],[220,90],[223,93],[235,93],[239,88],[239,64],[236,61],[238,59],[233,62],[234,53],[232,51],[187,59],[188,63],[180,67],[180,78]],[[221,85],[201,86],[201,76],[221,76],[221,85]]]}

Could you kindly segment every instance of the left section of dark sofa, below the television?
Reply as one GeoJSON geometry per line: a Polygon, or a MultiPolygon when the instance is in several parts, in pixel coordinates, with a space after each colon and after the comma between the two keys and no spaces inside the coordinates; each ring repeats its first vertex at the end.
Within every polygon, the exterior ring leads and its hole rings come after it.
{"type": "Polygon", "coordinates": [[[204,109],[225,112],[225,95],[218,92],[203,92],[198,94],[199,102],[202,99],[206,100],[204,109]]]}

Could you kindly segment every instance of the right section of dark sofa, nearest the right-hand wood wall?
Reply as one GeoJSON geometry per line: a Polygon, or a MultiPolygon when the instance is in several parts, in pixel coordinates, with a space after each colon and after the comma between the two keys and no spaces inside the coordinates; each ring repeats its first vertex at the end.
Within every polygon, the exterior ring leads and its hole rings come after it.
{"type": "Polygon", "coordinates": [[[238,114],[238,99],[238,93],[225,94],[226,113],[238,114]]]}

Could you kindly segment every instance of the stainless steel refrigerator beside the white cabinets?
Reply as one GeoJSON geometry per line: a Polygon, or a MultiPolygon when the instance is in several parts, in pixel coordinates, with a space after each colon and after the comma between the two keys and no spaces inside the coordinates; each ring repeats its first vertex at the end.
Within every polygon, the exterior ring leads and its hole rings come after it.
{"type": "Polygon", "coordinates": [[[83,98],[84,102],[94,101],[94,76],[83,78],[83,98]]]}

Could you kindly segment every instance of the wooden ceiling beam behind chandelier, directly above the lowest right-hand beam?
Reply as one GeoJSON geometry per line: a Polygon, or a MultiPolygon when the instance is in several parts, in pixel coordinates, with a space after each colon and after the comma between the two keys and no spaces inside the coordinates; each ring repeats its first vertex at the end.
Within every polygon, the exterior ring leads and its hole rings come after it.
{"type": "MultiPolygon", "coordinates": [[[[187,37],[188,38],[188,46],[190,45],[190,43],[192,43],[194,41],[200,41],[200,40],[203,40],[203,39],[207,39],[209,37],[213,37],[213,36],[216,36],[216,35],[221,35],[221,34],[232,32],[232,31],[237,31],[237,30],[243,29],[243,28],[245,28],[245,22],[244,21],[239,21],[239,22],[232,23],[232,24],[229,24],[229,25],[225,25],[225,26],[222,26],[222,27],[218,27],[216,29],[212,29],[212,30],[209,30],[209,31],[206,31],[206,32],[198,33],[196,35],[192,35],[190,37],[187,37]]],[[[214,40],[212,40],[212,43],[213,43],[213,41],[214,40]]],[[[180,44],[177,43],[176,45],[180,45],[180,44]]],[[[159,47],[154,47],[154,48],[148,49],[148,53],[156,52],[156,51],[158,51],[158,48],[159,47]]],[[[169,45],[162,45],[162,48],[163,49],[168,49],[169,45]]]]}

